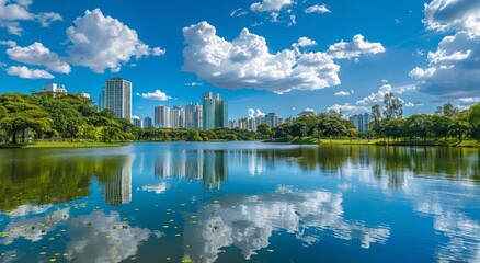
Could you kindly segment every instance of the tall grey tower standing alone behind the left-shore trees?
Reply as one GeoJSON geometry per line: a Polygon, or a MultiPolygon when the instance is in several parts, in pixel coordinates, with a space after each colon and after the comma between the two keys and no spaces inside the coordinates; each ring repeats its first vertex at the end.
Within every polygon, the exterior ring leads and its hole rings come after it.
{"type": "Polygon", "coordinates": [[[107,79],[105,83],[105,107],[115,116],[132,118],[132,82],[122,78],[107,79]]]}

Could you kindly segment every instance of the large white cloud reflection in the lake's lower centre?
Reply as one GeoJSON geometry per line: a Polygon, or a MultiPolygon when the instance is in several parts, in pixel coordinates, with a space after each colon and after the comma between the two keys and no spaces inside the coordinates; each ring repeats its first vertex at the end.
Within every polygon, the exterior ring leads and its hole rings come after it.
{"type": "MultiPolygon", "coordinates": [[[[278,187],[275,192],[251,196],[228,196],[195,214],[199,224],[185,228],[186,256],[215,262],[222,248],[239,248],[245,260],[270,245],[279,230],[295,235],[305,247],[312,245],[329,230],[343,240],[358,240],[368,249],[385,243],[388,226],[368,227],[363,221],[343,218],[342,194],[322,191],[296,191],[278,187]]],[[[191,220],[186,215],[185,220],[191,220]]]]}

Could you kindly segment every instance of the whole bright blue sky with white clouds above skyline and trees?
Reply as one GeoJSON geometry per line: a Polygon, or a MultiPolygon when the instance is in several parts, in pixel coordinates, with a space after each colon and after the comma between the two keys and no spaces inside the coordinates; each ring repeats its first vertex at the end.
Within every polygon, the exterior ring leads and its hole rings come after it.
{"type": "Polygon", "coordinates": [[[480,101],[480,1],[0,0],[0,92],[45,83],[96,101],[133,81],[133,113],[221,93],[229,118],[350,115],[403,100],[405,115],[480,101]],[[259,110],[259,111],[256,111],[259,110]]]}

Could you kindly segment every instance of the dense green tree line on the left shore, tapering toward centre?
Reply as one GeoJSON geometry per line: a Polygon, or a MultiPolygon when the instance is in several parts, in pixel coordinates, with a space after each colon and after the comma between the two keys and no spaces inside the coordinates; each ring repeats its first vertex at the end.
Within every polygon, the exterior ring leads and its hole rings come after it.
{"type": "Polygon", "coordinates": [[[253,132],[216,128],[196,129],[140,128],[113,111],[98,111],[82,94],[33,92],[0,95],[0,138],[3,142],[35,139],[132,141],[132,140],[251,140],[253,132]]]}

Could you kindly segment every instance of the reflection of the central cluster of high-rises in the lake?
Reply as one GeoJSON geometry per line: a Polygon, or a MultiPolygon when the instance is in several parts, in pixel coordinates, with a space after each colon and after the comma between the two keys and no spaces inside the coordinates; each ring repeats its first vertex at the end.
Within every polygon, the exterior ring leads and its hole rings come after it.
{"type": "Polygon", "coordinates": [[[222,150],[181,150],[158,155],[155,175],[202,180],[205,187],[220,188],[228,178],[228,153],[222,150]]]}

